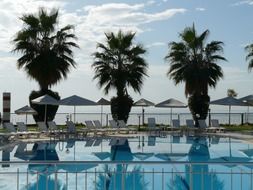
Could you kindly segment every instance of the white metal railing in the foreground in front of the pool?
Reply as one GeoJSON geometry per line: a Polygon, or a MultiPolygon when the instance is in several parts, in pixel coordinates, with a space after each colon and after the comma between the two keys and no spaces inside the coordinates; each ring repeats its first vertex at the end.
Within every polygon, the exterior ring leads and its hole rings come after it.
{"type": "Polygon", "coordinates": [[[0,169],[1,190],[253,190],[252,162],[12,161],[0,164],[11,166],[0,169]],[[84,165],[89,169],[78,171],[84,165]],[[68,171],[68,166],[76,169],[68,171]]]}

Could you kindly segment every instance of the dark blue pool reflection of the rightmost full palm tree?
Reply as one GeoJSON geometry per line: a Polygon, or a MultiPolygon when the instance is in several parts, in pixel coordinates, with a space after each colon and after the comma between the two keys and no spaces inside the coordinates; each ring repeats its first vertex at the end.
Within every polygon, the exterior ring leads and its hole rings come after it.
{"type": "MultiPolygon", "coordinates": [[[[194,138],[188,153],[189,162],[206,162],[210,160],[208,140],[206,137],[194,138]]],[[[177,174],[168,184],[172,190],[223,190],[224,182],[209,170],[208,164],[185,165],[185,176],[177,174]]]]}

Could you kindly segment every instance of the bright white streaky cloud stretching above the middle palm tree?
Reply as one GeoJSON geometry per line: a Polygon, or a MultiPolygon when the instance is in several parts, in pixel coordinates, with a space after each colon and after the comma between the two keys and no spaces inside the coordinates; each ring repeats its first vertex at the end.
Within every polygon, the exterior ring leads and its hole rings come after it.
{"type": "Polygon", "coordinates": [[[91,60],[90,55],[96,50],[96,43],[104,41],[104,33],[111,31],[134,31],[137,35],[149,31],[142,25],[168,20],[176,14],[184,13],[185,9],[165,9],[155,13],[144,11],[148,4],[109,3],[102,5],[88,5],[83,12],[76,11],[62,14],[61,25],[72,23],[76,26],[75,33],[81,51],[75,54],[82,63],[91,60]],[[80,57],[82,59],[80,59],[80,57]]]}

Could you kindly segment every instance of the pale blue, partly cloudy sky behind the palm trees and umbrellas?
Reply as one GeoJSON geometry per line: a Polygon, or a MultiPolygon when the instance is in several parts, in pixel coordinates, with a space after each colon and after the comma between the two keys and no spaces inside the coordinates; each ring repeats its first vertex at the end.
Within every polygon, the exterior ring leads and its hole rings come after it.
{"type": "MultiPolygon", "coordinates": [[[[59,8],[59,26],[75,25],[77,43],[75,50],[76,69],[72,69],[67,80],[53,86],[61,97],[77,94],[92,100],[104,96],[103,91],[92,81],[91,54],[96,51],[96,42],[103,42],[104,32],[136,31],[136,42],[147,48],[145,56],[149,63],[149,78],[145,80],[142,94],[130,90],[134,100],[141,97],[155,103],[168,98],[186,102],[184,84],[175,86],[166,77],[169,64],[164,61],[167,44],[178,41],[178,34],[193,23],[198,33],[210,30],[209,41],[225,43],[224,56],[228,62],[220,63],[224,79],[216,89],[210,89],[211,99],[226,96],[228,88],[238,96],[252,94],[253,73],[247,70],[245,45],[253,43],[253,1],[245,0],[156,0],[156,1],[112,1],[112,0],[1,0],[0,1],[0,86],[1,92],[12,93],[12,111],[28,104],[28,96],[37,90],[35,81],[27,78],[23,70],[17,70],[18,54],[11,53],[11,39],[22,28],[19,20],[24,13],[34,13],[38,7],[59,8]]],[[[107,99],[115,95],[111,92],[107,99]]],[[[0,108],[2,102],[0,102],[0,108]]],[[[67,108],[62,108],[63,111],[67,108]]],[[[85,108],[80,108],[80,111],[85,108]]]]}

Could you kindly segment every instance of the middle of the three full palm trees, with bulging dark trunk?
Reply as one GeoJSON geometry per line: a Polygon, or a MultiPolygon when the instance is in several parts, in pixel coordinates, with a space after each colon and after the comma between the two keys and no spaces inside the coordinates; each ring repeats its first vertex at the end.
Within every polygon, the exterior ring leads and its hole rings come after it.
{"type": "Polygon", "coordinates": [[[140,93],[144,76],[147,76],[147,63],[142,57],[146,50],[133,43],[135,33],[121,30],[117,34],[106,33],[105,44],[98,43],[93,54],[95,70],[93,79],[104,88],[105,94],[116,89],[117,97],[111,99],[111,111],[115,120],[127,121],[133,100],[128,95],[127,87],[140,93]]]}

